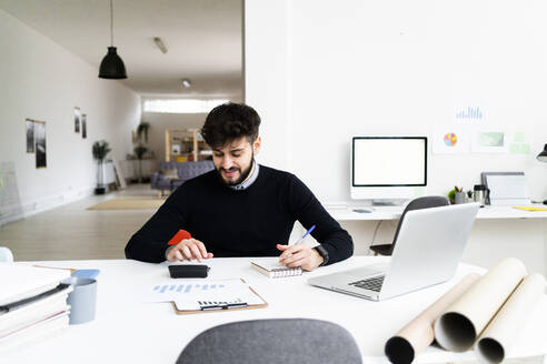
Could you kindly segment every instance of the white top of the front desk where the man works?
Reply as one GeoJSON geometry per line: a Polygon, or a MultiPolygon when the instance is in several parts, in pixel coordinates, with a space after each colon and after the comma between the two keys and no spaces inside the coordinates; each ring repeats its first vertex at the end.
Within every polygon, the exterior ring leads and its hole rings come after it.
{"type": "MultiPolygon", "coordinates": [[[[50,266],[97,267],[97,317],[93,322],[70,326],[51,337],[10,355],[0,363],[175,363],[185,345],[202,331],[227,322],[274,317],[322,318],[346,327],[359,345],[364,363],[388,363],[384,344],[410,318],[438,299],[465,273],[481,271],[460,265],[457,279],[385,302],[312,287],[312,275],[385,261],[386,257],[355,256],[320,267],[304,276],[269,280],[250,267],[250,259],[213,259],[210,279],[245,277],[268,301],[260,310],[176,315],[167,303],[142,304],[135,294],[143,284],[168,276],[166,263],[136,261],[42,262],[50,266]]],[[[29,263],[21,263],[29,264],[29,263]]],[[[541,299],[509,357],[545,354],[547,347],[547,296],[541,299]]],[[[417,363],[475,360],[473,352],[449,353],[429,347],[417,363]]]]}

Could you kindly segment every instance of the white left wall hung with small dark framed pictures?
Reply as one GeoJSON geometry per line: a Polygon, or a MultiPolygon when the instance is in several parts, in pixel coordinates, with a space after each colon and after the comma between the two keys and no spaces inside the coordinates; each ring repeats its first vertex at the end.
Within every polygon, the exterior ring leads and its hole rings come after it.
{"type": "MultiPolygon", "coordinates": [[[[23,214],[90,194],[97,171],[92,143],[106,139],[118,160],[131,152],[140,97],[117,81],[98,79],[95,67],[3,10],[0,49],[0,161],[16,165],[23,214]],[[74,133],[74,107],[87,113],[87,139],[74,133]],[[47,122],[46,169],[36,169],[34,154],[26,152],[26,118],[47,122]]],[[[12,213],[0,223],[21,216],[12,213]]]]}

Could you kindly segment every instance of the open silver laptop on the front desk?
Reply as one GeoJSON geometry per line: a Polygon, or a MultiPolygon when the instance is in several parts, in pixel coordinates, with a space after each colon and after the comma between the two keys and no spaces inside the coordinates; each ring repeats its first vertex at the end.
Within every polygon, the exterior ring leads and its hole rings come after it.
{"type": "Polygon", "coordinates": [[[478,203],[409,211],[388,264],[316,276],[321,289],[381,301],[450,280],[464,254],[478,203]]]}

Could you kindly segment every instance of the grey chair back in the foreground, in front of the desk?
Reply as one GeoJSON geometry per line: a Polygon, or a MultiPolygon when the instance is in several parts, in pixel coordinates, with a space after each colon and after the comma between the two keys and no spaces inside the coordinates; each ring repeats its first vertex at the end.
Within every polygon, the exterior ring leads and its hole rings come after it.
{"type": "Polygon", "coordinates": [[[357,364],[351,334],[327,321],[272,318],[232,322],[196,336],[177,364],[357,364]]]}

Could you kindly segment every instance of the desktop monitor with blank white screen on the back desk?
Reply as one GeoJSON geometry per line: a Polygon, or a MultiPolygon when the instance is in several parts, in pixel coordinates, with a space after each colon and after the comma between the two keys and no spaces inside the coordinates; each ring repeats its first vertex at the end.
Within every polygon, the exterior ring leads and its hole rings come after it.
{"type": "Polygon", "coordinates": [[[384,203],[427,185],[426,136],[354,136],[351,199],[384,203]]]}

